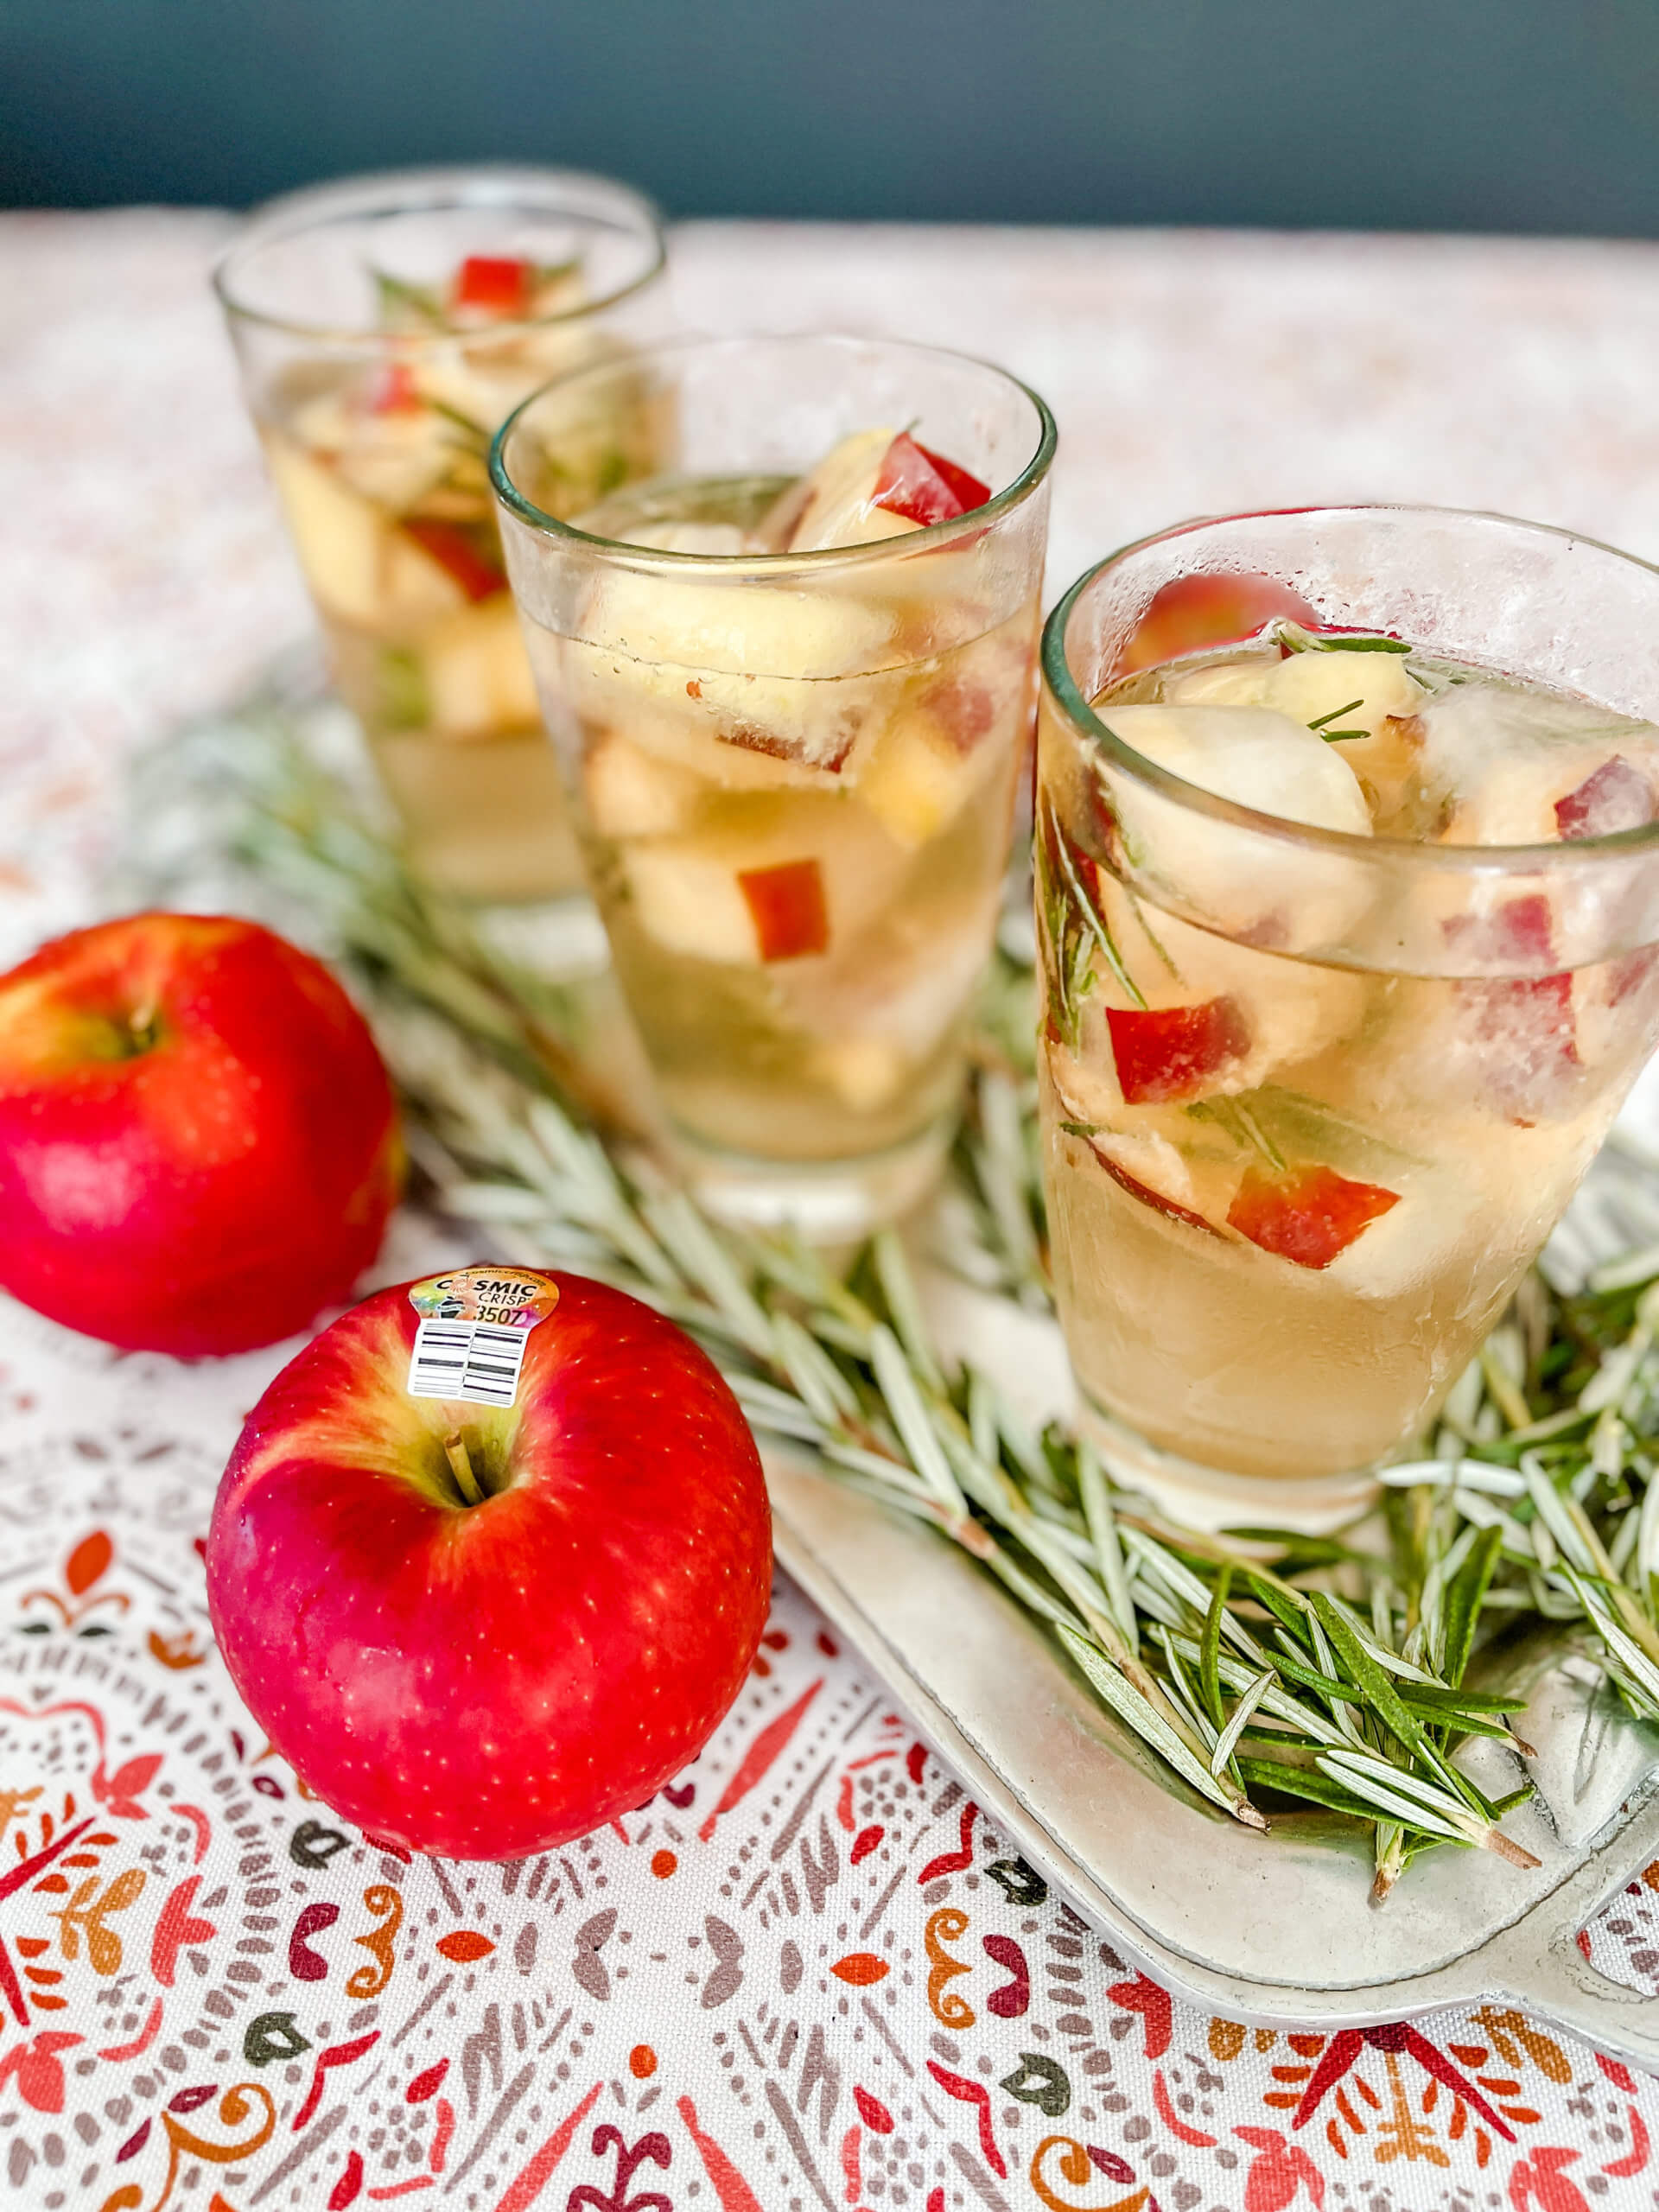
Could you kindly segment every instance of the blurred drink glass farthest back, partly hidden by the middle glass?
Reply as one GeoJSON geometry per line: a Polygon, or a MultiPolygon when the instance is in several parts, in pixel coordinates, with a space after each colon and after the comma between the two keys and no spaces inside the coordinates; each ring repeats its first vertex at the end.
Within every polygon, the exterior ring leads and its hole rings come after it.
{"type": "MultiPolygon", "coordinates": [[[[622,184],[416,168],[270,201],[215,272],[409,865],[518,909],[513,949],[555,967],[562,920],[591,942],[593,909],[502,573],[489,442],[549,376],[661,334],[661,268],[657,215],[622,184]]],[[[626,411],[586,422],[551,493],[562,513],[635,467],[635,436],[626,411]]]]}

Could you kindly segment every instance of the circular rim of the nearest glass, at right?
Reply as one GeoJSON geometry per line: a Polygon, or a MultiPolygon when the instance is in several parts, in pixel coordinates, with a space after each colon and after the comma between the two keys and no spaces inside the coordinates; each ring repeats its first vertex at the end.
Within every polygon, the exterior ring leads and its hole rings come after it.
{"type": "MultiPolygon", "coordinates": [[[[1555,538],[1564,546],[1590,546],[1597,553],[1610,553],[1630,568],[1646,568],[1648,575],[1659,582],[1659,566],[1641,560],[1639,553],[1624,553],[1619,546],[1610,546],[1606,540],[1590,538],[1584,531],[1568,531],[1553,522],[1526,522],[1520,515],[1504,515],[1486,507],[1429,507],[1418,500],[1352,500],[1334,507],[1248,507],[1230,515],[1192,515],[1186,522],[1170,524],[1168,529],[1150,531],[1146,538],[1135,538],[1130,544],[1117,546],[1115,553],[1104,555],[1104,560],[1093,562],[1055,602],[1048,619],[1044,622],[1042,644],[1037,648],[1042,686],[1071,723],[1075,737],[1106,754],[1106,759],[1124,774],[1148,785],[1161,799],[1186,807],[1190,814],[1203,814],[1210,821],[1225,823],[1228,827],[1243,830],[1252,836],[1272,836],[1305,852],[1340,856],[1343,860],[1352,860],[1356,865],[1363,865],[1369,856],[1374,860],[1387,860],[1391,867],[1416,867],[1425,874],[1453,872],[1469,876],[1540,876],[1568,872],[1582,867],[1586,860],[1593,865],[1597,854],[1606,854],[1608,858],[1632,858],[1644,852],[1659,852],[1659,821],[1644,823],[1637,830],[1617,830],[1608,836],[1586,836],[1573,841],[1551,838],[1542,845],[1429,845],[1418,838],[1360,836],[1356,830],[1323,830],[1314,823],[1290,821],[1283,814],[1263,814],[1259,807],[1248,807],[1237,799],[1223,799],[1219,792],[1206,792],[1203,785],[1188,783],[1186,776],[1177,776],[1172,770],[1150,761],[1144,752],[1126,745],[1124,739],[1108,728],[1106,721],[1102,721],[1091,701],[1084,699],[1071,672],[1071,661],[1066,659],[1066,628],[1079,599],[1108,568],[1130,560],[1135,553],[1144,553],[1148,546],[1170,544],[1179,538],[1194,538],[1228,522],[1259,522],[1272,515],[1436,515],[1467,522],[1498,522],[1504,529],[1524,531],[1531,538],[1555,538]]],[[[1356,635],[1367,633],[1360,630],[1356,635]]],[[[1610,708],[1608,712],[1615,710],[1610,708]]]]}

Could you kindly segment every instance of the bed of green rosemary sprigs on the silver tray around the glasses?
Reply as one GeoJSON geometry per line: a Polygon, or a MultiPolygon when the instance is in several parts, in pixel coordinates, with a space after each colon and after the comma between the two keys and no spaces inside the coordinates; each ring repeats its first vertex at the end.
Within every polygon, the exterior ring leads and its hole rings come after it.
{"type": "MultiPolygon", "coordinates": [[[[1659,1719],[1657,1265],[1624,1265],[1568,1223],[1546,1261],[1559,1287],[1528,1283],[1453,1387],[1436,1455],[1385,1478],[1369,1526],[1170,1526],[1086,1440],[1035,1436],[993,1376],[947,1369],[891,1232],[836,1272],[796,1239],[719,1230],[670,1190],[628,1141],[626,1099],[593,1082],[591,998],[513,971],[407,878],[319,763],[325,728],[279,692],[153,757],[135,889],[201,902],[206,860],[215,902],[234,891],[270,911],[276,896],[272,918],[321,927],[445,1210],[504,1256],[604,1276],[690,1327],[757,1429],[962,1546],[1199,1801],[1252,1827],[1298,1803],[1365,1823],[1385,1896],[1444,1843],[1528,1863],[1500,1827],[1524,1785],[1489,1798],[1462,1759],[1473,1739],[1515,1743],[1520,1701],[1469,1672],[1517,1621],[1564,1624],[1630,1710],[1659,1719]]],[[[1040,878],[1055,953],[1057,891],[1040,878]]],[[[1099,949],[1086,916],[1064,927],[1099,949]]],[[[1033,1004],[1011,920],[942,1212],[967,1272],[1026,1298],[1042,1294],[1033,1004]]]]}

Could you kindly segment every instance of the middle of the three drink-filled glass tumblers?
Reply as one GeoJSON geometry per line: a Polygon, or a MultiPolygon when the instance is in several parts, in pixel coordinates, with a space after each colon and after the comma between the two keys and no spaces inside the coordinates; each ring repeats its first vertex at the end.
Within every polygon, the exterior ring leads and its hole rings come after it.
{"type": "Polygon", "coordinates": [[[1053,447],[1000,369],[838,336],[664,345],[495,440],[617,978],[684,1172],[730,1219],[852,1237],[940,1166],[1029,748],[1053,447]],[[653,473],[571,522],[557,456],[624,403],[653,473]],[[838,502],[843,460],[889,442],[984,498],[927,526],[838,502]],[[836,542],[754,551],[774,524],[836,542]]]}

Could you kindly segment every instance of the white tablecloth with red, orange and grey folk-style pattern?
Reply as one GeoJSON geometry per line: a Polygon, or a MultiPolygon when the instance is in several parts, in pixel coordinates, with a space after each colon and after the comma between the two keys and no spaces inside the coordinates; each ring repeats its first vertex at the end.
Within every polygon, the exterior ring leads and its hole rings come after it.
{"type": "MultiPolygon", "coordinates": [[[[0,219],[4,958],[97,909],[124,752],[307,622],[217,234],[0,219]]],[[[701,325],[1026,374],[1062,420],[1055,586],[1179,513],[1347,495],[1659,555],[1644,246],[699,226],[677,281],[701,325]]],[[[378,1274],[429,1256],[405,1221],[378,1274]]],[[[237,1708],[204,1608],[212,1484],[283,1356],[117,1358],[0,1307],[9,2201],[1659,2205],[1659,2090],[1542,2022],[1270,2035],[1137,1975],[787,1584],[717,1739],[602,1834],[465,1867],[349,1832],[237,1708]]],[[[1621,1980],[1659,1986],[1657,1891],[1584,1938],[1621,1980]]]]}

